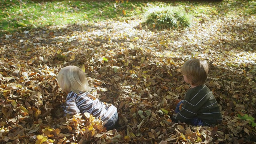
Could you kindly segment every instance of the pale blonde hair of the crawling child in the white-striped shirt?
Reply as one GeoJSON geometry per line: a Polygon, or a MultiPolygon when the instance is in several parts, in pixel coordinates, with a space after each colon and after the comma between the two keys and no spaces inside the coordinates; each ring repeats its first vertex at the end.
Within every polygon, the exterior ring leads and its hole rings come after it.
{"type": "Polygon", "coordinates": [[[66,66],[57,76],[58,84],[64,92],[90,91],[85,73],[77,66],[66,66]]]}

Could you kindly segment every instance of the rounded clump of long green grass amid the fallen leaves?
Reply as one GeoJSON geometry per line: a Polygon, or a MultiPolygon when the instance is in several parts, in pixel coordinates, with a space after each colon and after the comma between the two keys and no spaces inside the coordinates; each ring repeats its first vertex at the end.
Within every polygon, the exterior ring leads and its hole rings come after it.
{"type": "Polygon", "coordinates": [[[189,27],[191,15],[179,7],[155,7],[148,10],[146,22],[143,25],[151,29],[183,29],[189,27]]]}

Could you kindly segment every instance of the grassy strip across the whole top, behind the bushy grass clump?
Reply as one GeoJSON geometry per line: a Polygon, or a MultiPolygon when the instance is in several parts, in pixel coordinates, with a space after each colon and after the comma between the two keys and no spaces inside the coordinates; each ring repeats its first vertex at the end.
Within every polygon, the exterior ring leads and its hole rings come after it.
{"type": "Polygon", "coordinates": [[[221,4],[186,1],[39,1],[0,0],[0,36],[15,31],[63,24],[141,18],[154,6],[178,6],[196,18],[224,15],[256,14],[254,0],[223,0],[221,4]],[[228,8],[227,8],[228,7],[228,8]],[[122,13],[125,10],[126,15],[122,13]],[[229,11],[227,11],[229,10],[229,11]]]}

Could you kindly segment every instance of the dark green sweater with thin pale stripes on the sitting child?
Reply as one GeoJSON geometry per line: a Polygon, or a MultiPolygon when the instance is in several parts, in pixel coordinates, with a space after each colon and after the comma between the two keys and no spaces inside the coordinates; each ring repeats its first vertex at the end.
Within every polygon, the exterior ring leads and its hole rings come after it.
{"type": "Polygon", "coordinates": [[[220,106],[205,84],[186,92],[184,103],[176,119],[181,122],[189,122],[191,118],[195,117],[200,118],[206,126],[222,122],[220,106]]]}

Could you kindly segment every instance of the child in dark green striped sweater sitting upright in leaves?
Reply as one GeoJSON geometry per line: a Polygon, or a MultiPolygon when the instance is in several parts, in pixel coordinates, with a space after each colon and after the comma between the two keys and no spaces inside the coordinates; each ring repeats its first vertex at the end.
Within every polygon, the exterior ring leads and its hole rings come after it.
{"type": "Polygon", "coordinates": [[[210,89],[205,85],[208,64],[205,60],[187,60],[182,66],[184,81],[190,84],[185,99],[174,111],[172,120],[194,126],[212,126],[222,122],[220,107],[210,89]]]}

